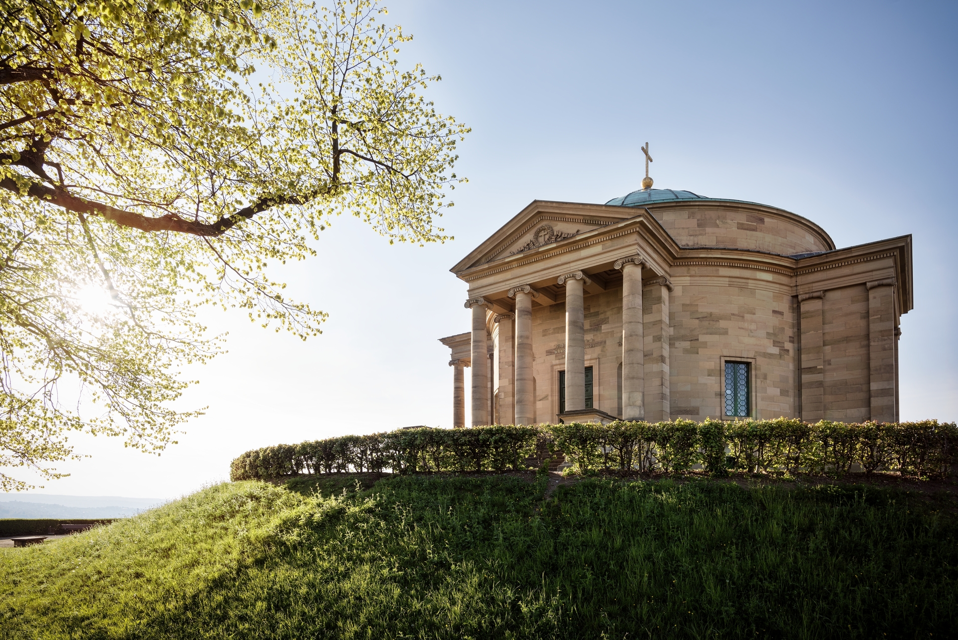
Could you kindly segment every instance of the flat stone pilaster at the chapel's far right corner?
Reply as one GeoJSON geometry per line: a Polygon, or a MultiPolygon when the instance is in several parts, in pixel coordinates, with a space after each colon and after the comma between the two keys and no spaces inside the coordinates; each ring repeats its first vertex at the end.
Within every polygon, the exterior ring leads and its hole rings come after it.
{"type": "Polygon", "coordinates": [[[898,336],[895,334],[895,279],[877,280],[868,287],[868,369],[871,417],[879,423],[894,423],[895,364],[898,336]]]}

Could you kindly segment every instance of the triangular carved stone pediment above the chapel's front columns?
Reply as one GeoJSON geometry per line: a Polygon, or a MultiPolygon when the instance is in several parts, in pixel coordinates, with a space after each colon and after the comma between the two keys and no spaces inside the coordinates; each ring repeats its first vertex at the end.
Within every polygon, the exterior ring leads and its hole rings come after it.
{"type": "Polygon", "coordinates": [[[473,266],[571,241],[639,213],[629,207],[534,200],[450,270],[458,274],[473,266]]]}

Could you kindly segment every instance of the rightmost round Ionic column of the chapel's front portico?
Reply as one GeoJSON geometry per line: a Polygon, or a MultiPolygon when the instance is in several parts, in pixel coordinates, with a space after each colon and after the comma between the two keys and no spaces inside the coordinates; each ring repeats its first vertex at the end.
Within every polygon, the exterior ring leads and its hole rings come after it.
{"type": "Polygon", "coordinates": [[[642,339],[642,259],[620,260],[615,268],[622,269],[622,418],[643,420],[646,372],[642,339]]]}

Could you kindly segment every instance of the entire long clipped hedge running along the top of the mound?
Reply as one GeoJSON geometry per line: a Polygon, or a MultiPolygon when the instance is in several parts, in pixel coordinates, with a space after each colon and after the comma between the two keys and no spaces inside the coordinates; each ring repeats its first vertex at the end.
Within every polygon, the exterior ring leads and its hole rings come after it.
{"type": "Polygon", "coordinates": [[[954,423],[803,423],[800,420],[616,421],[465,429],[420,427],[342,436],[247,451],[233,461],[232,480],[277,480],[345,471],[480,471],[538,467],[536,451],[564,454],[573,470],[684,471],[841,476],[849,471],[947,475],[954,423]]]}

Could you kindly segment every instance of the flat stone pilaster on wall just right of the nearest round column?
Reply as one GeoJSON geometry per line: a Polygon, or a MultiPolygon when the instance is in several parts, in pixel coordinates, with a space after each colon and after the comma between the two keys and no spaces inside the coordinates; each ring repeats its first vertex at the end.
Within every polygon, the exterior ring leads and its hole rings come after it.
{"type": "Polygon", "coordinates": [[[669,293],[672,290],[673,286],[668,278],[658,278],[647,282],[642,292],[645,419],[650,423],[672,418],[669,399],[669,293]]]}

